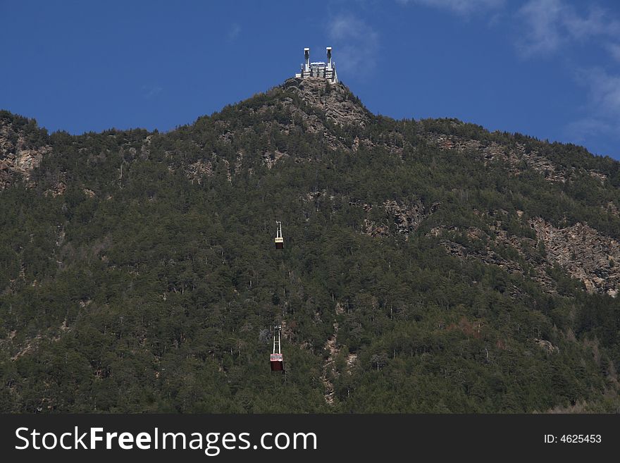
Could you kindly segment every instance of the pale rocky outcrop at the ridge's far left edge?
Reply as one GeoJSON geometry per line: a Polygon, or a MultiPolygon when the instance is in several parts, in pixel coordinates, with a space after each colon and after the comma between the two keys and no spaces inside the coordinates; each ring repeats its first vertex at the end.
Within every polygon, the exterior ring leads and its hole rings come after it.
{"type": "Polygon", "coordinates": [[[0,190],[18,180],[25,180],[31,186],[32,171],[50,152],[49,145],[36,146],[27,140],[23,128],[0,118],[0,190]]]}

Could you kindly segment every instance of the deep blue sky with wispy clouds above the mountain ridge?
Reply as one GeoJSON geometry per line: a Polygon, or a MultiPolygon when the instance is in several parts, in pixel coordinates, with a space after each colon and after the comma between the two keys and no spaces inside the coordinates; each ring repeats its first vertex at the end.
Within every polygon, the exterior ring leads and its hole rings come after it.
{"type": "Polygon", "coordinates": [[[456,117],[620,159],[620,2],[0,0],[0,109],[49,130],[171,130],[333,47],[394,118],[456,117]]]}

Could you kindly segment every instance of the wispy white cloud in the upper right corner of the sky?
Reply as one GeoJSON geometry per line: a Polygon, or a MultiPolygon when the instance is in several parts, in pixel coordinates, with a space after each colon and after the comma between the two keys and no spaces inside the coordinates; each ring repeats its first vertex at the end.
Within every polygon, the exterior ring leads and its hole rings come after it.
{"type": "Polygon", "coordinates": [[[529,0],[518,16],[523,22],[518,48],[526,57],[550,54],[570,42],[620,35],[620,22],[607,11],[591,6],[583,15],[564,0],[529,0]]]}

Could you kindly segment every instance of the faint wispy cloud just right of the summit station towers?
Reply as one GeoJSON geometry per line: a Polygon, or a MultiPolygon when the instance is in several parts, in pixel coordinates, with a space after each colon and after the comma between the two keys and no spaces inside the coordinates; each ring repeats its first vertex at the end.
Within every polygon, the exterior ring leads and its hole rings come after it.
{"type": "Polygon", "coordinates": [[[328,36],[340,77],[343,71],[365,75],[376,68],[379,35],[363,20],[351,15],[336,16],[328,23],[328,36]]]}

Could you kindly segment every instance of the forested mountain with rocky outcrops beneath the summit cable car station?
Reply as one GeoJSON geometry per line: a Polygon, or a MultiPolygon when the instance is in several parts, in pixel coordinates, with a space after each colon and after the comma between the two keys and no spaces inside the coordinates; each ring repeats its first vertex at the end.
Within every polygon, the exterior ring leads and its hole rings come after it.
{"type": "Polygon", "coordinates": [[[620,163],[582,147],[290,79],[166,133],[2,111],[0,188],[3,412],[620,410],[620,163]]]}

